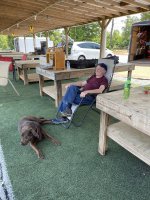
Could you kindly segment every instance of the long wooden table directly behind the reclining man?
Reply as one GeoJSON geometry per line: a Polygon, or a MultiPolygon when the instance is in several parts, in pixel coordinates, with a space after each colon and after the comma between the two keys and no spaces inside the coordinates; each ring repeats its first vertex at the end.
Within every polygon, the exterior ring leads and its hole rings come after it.
{"type": "MultiPolygon", "coordinates": [[[[135,66],[133,64],[123,64],[119,63],[115,67],[115,73],[116,72],[122,72],[127,71],[128,77],[131,77],[132,70],[134,70],[135,66]]],[[[36,73],[39,74],[39,87],[40,87],[40,95],[43,96],[43,94],[47,94],[53,99],[55,99],[55,105],[58,106],[59,102],[62,99],[62,94],[64,91],[64,84],[62,85],[63,80],[69,80],[73,78],[81,78],[81,77],[89,77],[94,73],[94,68],[84,68],[84,69],[73,69],[70,70],[61,70],[61,71],[55,71],[53,69],[42,69],[40,66],[36,68],[36,73]],[[44,87],[44,77],[47,77],[54,81],[53,86],[46,86],[44,87]]],[[[113,89],[120,89],[123,87],[123,85],[114,84],[113,89]]]]}

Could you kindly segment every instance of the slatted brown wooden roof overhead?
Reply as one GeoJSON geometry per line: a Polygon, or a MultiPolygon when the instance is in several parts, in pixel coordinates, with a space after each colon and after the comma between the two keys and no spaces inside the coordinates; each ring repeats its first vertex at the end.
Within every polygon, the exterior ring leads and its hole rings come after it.
{"type": "Polygon", "coordinates": [[[22,36],[150,11],[150,0],[1,0],[1,34],[22,36]]]}

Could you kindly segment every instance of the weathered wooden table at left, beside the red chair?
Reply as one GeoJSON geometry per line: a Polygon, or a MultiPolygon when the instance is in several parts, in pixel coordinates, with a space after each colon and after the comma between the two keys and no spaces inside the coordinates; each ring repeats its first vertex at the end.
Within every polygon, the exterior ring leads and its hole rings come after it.
{"type": "Polygon", "coordinates": [[[15,61],[15,67],[18,72],[18,76],[23,80],[24,85],[29,82],[38,81],[38,75],[36,73],[28,73],[30,69],[36,68],[39,66],[39,60],[18,60],[15,61]]]}

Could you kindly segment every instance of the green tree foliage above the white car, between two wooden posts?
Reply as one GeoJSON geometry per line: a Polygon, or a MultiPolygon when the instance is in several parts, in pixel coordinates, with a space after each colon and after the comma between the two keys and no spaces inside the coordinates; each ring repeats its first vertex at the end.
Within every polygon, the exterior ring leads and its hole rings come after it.
{"type": "Polygon", "coordinates": [[[69,31],[69,36],[74,39],[74,41],[100,41],[100,28],[97,22],[72,27],[69,31]]]}

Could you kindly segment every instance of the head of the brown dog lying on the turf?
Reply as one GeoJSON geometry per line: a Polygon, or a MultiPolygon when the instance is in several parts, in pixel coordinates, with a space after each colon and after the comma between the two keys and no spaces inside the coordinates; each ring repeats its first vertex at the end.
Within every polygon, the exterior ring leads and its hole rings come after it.
{"type": "Polygon", "coordinates": [[[29,127],[29,126],[24,126],[21,129],[21,144],[22,145],[27,145],[29,142],[33,142],[34,140],[38,139],[41,140],[42,135],[41,131],[37,127],[29,127]]]}

